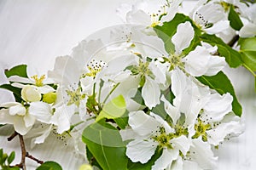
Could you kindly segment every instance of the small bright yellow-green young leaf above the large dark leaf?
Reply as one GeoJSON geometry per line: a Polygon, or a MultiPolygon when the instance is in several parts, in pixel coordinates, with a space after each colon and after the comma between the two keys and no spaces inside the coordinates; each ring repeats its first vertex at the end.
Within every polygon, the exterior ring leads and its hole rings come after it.
{"type": "Polygon", "coordinates": [[[103,118],[115,119],[123,116],[126,111],[125,98],[122,95],[112,99],[108,104],[104,105],[99,116],[96,117],[96,122],[103,118]]]}

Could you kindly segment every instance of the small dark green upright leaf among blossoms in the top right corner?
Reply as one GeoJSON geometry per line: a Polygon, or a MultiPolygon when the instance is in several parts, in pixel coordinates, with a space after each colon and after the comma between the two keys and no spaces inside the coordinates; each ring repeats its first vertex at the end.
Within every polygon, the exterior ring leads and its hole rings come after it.
{"type": "Polygon", "coordinates": [[[230,26],[236,31],[240,31],[243,26],[239,14],[236,13],[234,5],[230,5],[230,14],[228,19],[230,20],[230,26]]]}

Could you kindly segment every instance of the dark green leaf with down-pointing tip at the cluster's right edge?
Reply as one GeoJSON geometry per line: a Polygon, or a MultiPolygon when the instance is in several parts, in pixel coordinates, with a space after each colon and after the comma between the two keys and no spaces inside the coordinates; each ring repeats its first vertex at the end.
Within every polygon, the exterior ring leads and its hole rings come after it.
{"type": "Polygon", "coordinates": [[[232,110],[237,116],[241,116],[241,105],[236,98],[235,90],[230,79],[222,71],[219,71],[218,74],[213,77],[202,76],[196,78],[203,84],[209,86],[209,88],[215,89],[218,94],[230,93],[233,96],[232,110]]]}

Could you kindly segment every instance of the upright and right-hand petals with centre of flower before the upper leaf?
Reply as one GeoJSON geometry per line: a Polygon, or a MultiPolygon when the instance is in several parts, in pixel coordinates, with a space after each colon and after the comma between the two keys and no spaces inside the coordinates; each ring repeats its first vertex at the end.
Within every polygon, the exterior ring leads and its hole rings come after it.
{"type": "Polygon", "coordinates": [[[183,58],[183,49],[189,47],[194,35],[195,31],[189,21],[177,26],[177,32],[172,37],[172,43],[175,46],[175,53],[170,58],[172,66],[178,66],[194,77],[217,74],[224,68],[224,57],[212,56],[211,51],[204,46],[197,46],[183,58]]]}

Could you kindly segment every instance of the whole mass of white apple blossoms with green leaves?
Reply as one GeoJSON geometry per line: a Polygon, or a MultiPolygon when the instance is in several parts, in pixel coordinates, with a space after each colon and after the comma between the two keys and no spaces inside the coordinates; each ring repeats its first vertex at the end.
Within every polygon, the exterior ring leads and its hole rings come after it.
{"type": "Polygon", "coordinates": [[[0,105],[0,123],[32,146],[68,134],[100,169],[213,169],[212,150],[243,132],[223,69],[244,65],[255,76],[256,6],[202,0],[185,15],[182,3],[121,5],[125,25],[57,57],[47,79],[26,65],[5,71],[0,88],[16,101],[0,105]]]}

